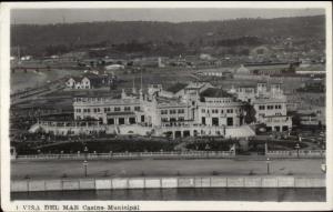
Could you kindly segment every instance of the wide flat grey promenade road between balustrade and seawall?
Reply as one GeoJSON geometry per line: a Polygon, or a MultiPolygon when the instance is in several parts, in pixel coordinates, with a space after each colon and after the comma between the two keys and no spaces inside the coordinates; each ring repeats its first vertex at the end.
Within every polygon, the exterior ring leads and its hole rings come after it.
{"type": "MultiPolygon", "coordinates": [[[[266,174],[266,161],[259,160],[101,160],[88,161],[90,178],[158,176],[158,175],[241,175],[266,174]]],[[[274,175],[320,175],[321,160],[272,160],[270,173],[274,175]]],[[[13,161],[12,180],[58,179],[83,176],[82,161],[13,161]]]]}

